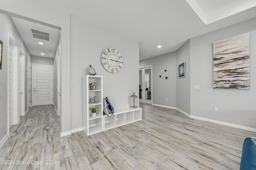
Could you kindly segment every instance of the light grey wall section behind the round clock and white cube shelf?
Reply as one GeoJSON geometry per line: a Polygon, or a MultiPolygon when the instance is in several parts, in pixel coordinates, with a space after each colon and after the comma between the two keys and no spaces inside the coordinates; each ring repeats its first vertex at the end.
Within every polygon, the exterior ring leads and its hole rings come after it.
{"type": "Polygon", "coordinates": [[[139,43],[127,37],[104,31],[91,23],[71,16],[71,127],[82,127],[82,76],[90,65],[96,75],[103,76],[103,97],[114,109],[127,107],[131,90],[139,92],[139,43]],[[101,64],[101,54],[108,47],[116,48],[123,57],[122,70],[110,73],[101,64]]]}

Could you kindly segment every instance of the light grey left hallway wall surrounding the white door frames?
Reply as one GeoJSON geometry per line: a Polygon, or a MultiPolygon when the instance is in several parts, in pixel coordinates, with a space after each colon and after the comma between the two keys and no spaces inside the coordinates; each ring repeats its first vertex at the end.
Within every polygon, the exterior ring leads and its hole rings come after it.
{"type": "MultiPolygon", "coordinates": [[[[8,33],[16,41],[16,45],[25,53],[25,86],[27,86],[27,63],[30,61],[30,54],[26,48],[18,30],[16,29],[10,16],[0,14],[0,21],[4,26],[0,27],[0,40],[3,42],[2,70],[0,70],[0,143],[4,136],[8,133],[8,33]]],[[[18,81],[18,80],[17,80],[18,81]]],[[[25,88],[25,109],[28,106],[27,88],[25,88]]]]}

